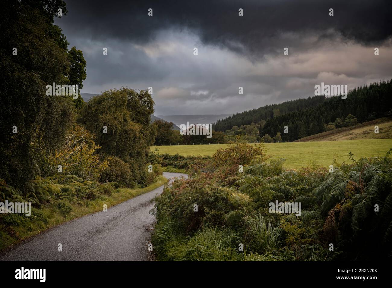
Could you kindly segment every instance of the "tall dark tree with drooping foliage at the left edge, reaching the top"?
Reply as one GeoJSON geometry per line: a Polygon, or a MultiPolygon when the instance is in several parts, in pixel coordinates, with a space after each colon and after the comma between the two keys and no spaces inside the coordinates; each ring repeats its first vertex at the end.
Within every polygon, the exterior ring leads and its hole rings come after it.
{"type": "Polygon", "coordinates": [[[53,25],[58,8],[67,13],[64,1],[2,3],[0,175],[23,193],[40,174],[45,156],[62,145],[73,121],[70,96],[45,94],[46,85],[67,84],[68,75],[78,74],[69,62],[64,34],[53,25]]]}

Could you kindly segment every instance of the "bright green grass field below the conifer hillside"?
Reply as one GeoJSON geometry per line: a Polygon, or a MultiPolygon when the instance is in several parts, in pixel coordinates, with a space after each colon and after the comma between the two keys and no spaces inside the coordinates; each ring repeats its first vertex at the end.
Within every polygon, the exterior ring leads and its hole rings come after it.
{"type": "MultiPolygon", "coordinates": [[[[152,146],[151,151],[158,148],[158,153],[188,155],[212,155],[219,148],[225,148],[226,144],[210,145],[172,145],[152,146]]],[[[392,148],[392,139],[361,139],[342,141],[319,141],[319,142],[291,142],[265,144],[267,153],[272,159],[284,158],[285,167],[300,168],[312,163],[328,167],[332,165],[334,157],[338,162],[349,162],[348,152],[354,154],[355,159],[361,157],[385,156],[392,148]]]]}

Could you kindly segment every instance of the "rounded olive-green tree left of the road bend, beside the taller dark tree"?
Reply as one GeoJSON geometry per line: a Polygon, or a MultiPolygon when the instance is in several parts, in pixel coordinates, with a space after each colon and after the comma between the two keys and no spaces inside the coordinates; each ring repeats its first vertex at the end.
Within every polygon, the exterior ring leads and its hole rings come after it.
{"type": "Polygon", "coordinates": [[[154,100],[147,91],[136,92],[125,87],[105,91],[83,106],[79,123],[94,134],[96,143],[102,147],[101,153],[113,157],[116,160],[112,162],[121,166],[119,171],[104,172],[104,178],[121,175],[119,182],[126,185],[147,183],[145,165],[156,134],[156,125],[149,124],[153,106],[154,100]],[[104,126],[107,133],[103,133],[104,126]],[[126,179],[127,173],[131,179],[126,179]]]}

